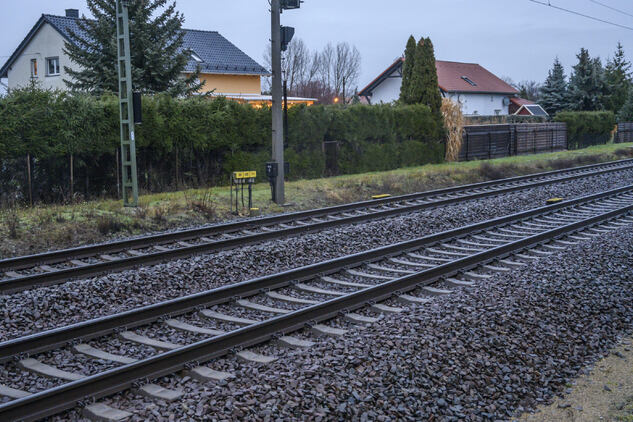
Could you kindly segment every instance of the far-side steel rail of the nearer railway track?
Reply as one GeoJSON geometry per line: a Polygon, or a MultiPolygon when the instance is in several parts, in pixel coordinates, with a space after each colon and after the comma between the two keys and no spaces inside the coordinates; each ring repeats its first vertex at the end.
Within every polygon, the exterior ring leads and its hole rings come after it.
{"type": "Polygon", "coordinates": [[[525,220],[535,215],[551,214],[561,209],[596,201],[631,190],[633,190],[633,185],[588,195],[582,198],[576,198],[570,201],[560,202],[554,205],[522,211],[485,222],[471,224],[457,229],[435,233],[341,258],[335,258],[297,269],[284,271],[278,274],[259,277],[241,283],[183,296],[177,299],[171,299],[115,315],[96,318],[8,340],[0,343],[0,362],[6,362],[15,356],[32,355],[38,352],[51,350],[72,341],[89,340],[94,337],[111,334],[122,327],[125,327],[125,329],[131,329],[157,321],[166,315],[173,317],[203,307],[226,303],[236,297],[244,298],[252,296],[260,293],[261,291],[288,286],[294,281],[307,280],[319,275],[336,272],[340,269],[358,266],[366,262],[382,259],[402,252],[407,252],[409,250],[419,249],[425,245],[431,245],[444,242],[448,239],[467,236],[492,227],[525,220]]]}

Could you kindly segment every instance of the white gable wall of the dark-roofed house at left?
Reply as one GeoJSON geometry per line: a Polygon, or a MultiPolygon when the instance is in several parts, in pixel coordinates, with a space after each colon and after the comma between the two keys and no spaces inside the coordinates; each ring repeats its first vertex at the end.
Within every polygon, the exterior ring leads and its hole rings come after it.
{"type": "Polygon", "coordinates": [[[9,68],[9,89],[28,86],[31,82],[31,61],[36,60],[37,76],[33,79],[42,89],[66,89],[64,79],[69,79],[64,66],[70,66],[70,58],[64,53],[65,39],[51,25],[44,23],[26,46],[22,54],[9,68]],[[47,59],[59,59],[59,74],[51,75],[47,59]]]}

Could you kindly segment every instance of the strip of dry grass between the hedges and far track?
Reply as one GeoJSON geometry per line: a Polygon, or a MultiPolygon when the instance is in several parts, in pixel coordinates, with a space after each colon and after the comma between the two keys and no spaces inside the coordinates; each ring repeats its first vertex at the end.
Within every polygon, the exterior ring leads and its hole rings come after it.
{"type": "MultiPolygon", "coordinates": [[[[630,145],[300,180],[286,185],[294,205],[284,209],[270,201],[270,186],[261,183],[253,186],[253,204],[262,214],[312,209],[630,157],[630,145]]],[[[0,259],[231,219],[229,197],[228,187],[216,187],[144,195],[136,210],[124,209],[117,200],[14,207],[0,214],[5,240],[0,259]]]]}

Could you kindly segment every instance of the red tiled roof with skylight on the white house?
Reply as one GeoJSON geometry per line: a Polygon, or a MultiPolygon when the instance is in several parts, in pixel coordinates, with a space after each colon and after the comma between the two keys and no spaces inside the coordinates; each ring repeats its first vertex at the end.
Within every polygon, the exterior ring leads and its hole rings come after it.
{"type": "Polygon", "coordinates": [[[505,83],[476,63],[445,62],[438,60],[437,79],[440,88],[446,92],[485,92],[518,94],[519,91],[505,83]],[[475,85],[470,84],[468,78],[475,85]]]}

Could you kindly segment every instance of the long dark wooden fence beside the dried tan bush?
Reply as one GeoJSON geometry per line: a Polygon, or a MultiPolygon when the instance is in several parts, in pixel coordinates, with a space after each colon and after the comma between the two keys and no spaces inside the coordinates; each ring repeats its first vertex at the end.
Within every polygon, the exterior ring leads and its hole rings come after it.
{"type": "Polygon", "coordinates": [[[459,160],[483,160],[565,149],[565,123],[465,126],[459,160]]]}

